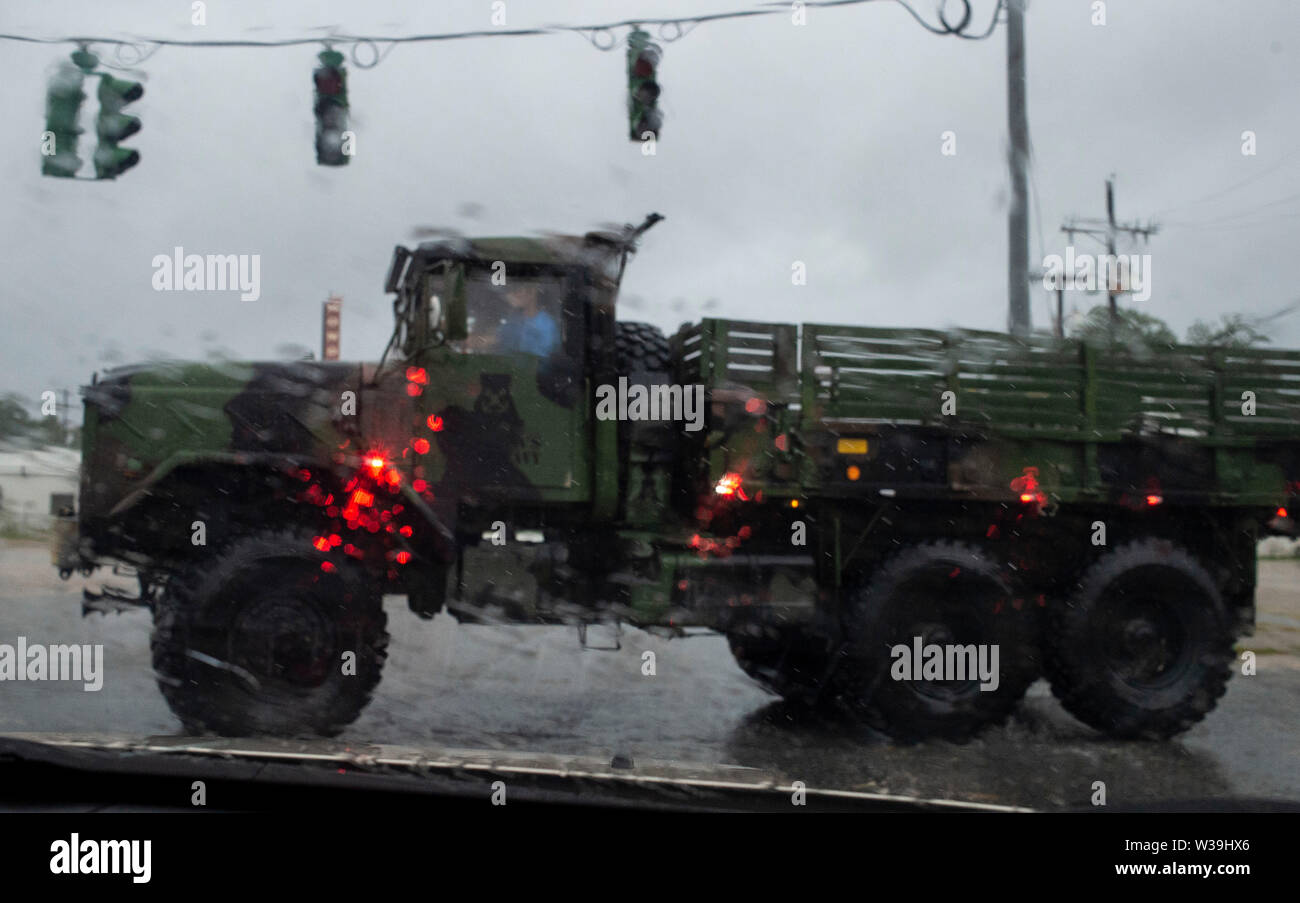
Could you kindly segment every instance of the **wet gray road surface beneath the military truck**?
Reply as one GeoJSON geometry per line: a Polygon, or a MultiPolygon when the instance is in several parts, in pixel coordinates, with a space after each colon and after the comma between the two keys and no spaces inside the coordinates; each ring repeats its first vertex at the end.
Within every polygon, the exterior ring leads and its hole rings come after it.
{"type": "MultiPolygon", "coordinates": [[[[103,643],[103,690],[0,682],[0,731],[177,734],[150,668],[146,612],[81,617],[43,546],[0,541],[0,643],[103,643]]],[[[809,786],[1037,808],[1252,796],[1300,800],[1300,561],[1261,561],[1260,628],[1210,716],[1165,743],[1109,741],[1037,683],[1014,719],[967,744],[897,747],[848,721],[793,712],[753,685],[718,637],[623,634],[584,651],[569,628],[421,621],[385,600],[390,656],[374,700],[342,739],[749,765],[809,786]],[[656,673],[642,674],[642,654],[656,673]]],[[[592,630],[589,642],[611,634],[592,630]]]]}

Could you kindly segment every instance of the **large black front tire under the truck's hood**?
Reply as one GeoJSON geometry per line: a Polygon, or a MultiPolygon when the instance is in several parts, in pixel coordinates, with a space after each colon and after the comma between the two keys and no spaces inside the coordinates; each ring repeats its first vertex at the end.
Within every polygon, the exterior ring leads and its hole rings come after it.
{"type": "Polygon", "coordinates": [[[355,564],[317,552],[308,534],[255,534],[168,581],[153,669],[190,733],[332,737],[380,682],[385,626],[378,583],[355,564]],[[355,673],[343,673],[344,652],[355,673]]]}

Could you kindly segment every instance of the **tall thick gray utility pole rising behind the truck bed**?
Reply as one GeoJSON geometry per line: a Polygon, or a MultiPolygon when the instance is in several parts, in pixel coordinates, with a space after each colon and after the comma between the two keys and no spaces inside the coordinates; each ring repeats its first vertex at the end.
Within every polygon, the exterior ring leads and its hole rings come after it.
{"type": "Polygon", "coordinates": [[[1024,0],[1005,0],[1006,8],[1006,126],[1010,136],[1011,205],[1008,218],[1008,326],[1014,335],[1030,334],[1030,204],[1026,168],[1030,122],[1024,112],[1024,0]]]}

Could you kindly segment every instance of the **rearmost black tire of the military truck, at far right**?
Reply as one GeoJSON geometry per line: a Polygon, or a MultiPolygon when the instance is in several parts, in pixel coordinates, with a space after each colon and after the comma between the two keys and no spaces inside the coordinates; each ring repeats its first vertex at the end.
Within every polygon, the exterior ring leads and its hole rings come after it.
{"type": "Polygon", "coordinates": [[[1048,613],[1048,678],[1061,704],[1121,738],[1166,738],[1227,690],[1234,635],[1214,579],[1184,548],[1140,539],[1098,559],[1048,613]]]}

